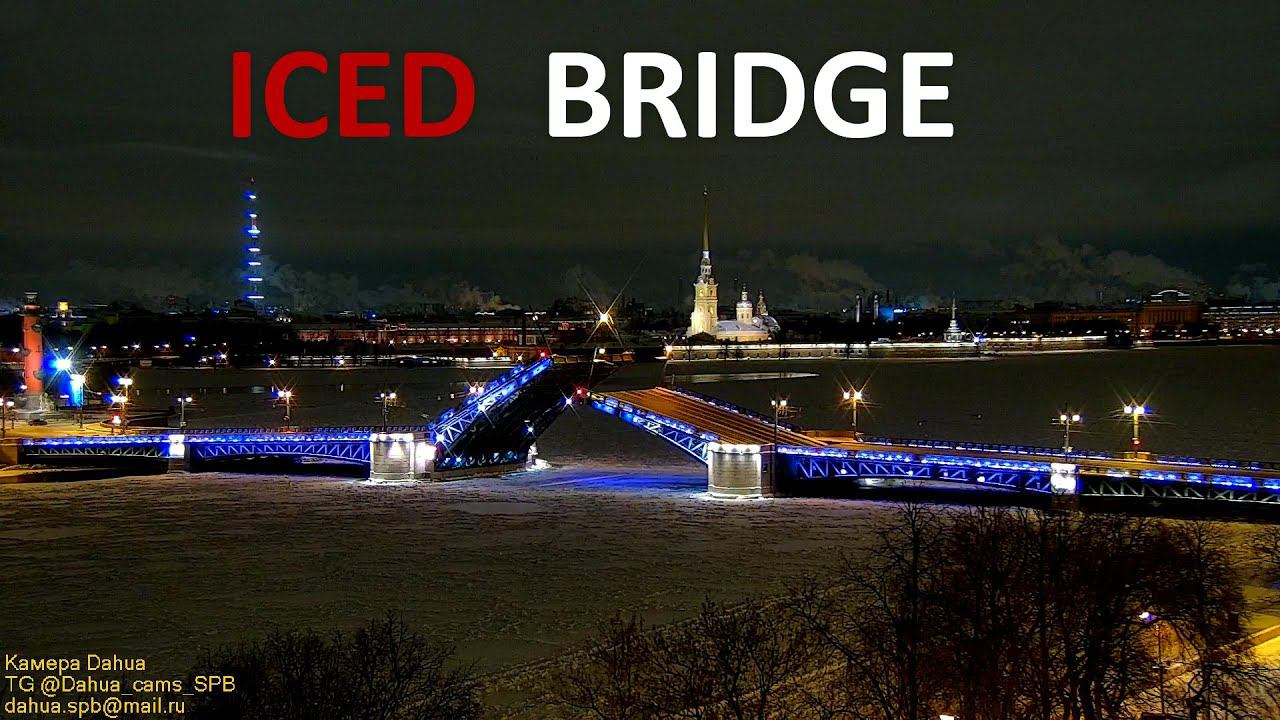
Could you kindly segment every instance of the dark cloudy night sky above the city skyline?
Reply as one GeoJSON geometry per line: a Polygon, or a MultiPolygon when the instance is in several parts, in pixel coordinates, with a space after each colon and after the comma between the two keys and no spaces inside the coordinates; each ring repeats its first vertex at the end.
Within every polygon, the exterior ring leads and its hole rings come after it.
{"type": "MultiPolygon", "coordinates": [[[[901,297],[1115,300],[1147,288],[1280,293],[1280,4],[1051,9],[899,4],[5,3],[0,42],[0,300],[77,301],[236,292],[241,181],[257,177],[275,299],[302,309],[428,300],[544,302],[576,288],[671,305],[690,293],[700,190],[713,192],[722,287],[771,304],[838,307],[863,287],[901,297]],[[86,4],[88,5],[88,4],[86,4]],[[260,6],[261,5],[261,6],[260,6]],[[389,101],[388,140],[280,137],[261,108],[230,132],[230,58],[330,56],[289,86],[300,118],[337,124],[337,53],[438,50],[476,78],[458,135],[398,135],[399,69],[365,70],[389,101]],[[622,54],[685,67],[719,56],[719,137],[669,140],[657,114],[622,137],[622,54]],[[735,51],[787,55],[812,88],[846,50],[888,58],[837,85],[888,90],[888,132],[829,135],[806,99],[790,133],[732,137],[735,51]],[[547,135],[547,55],[589,51],[609,70],[613,120],[591,138],[547,135]],[[901,137],[904,51],[951,99],[901,137]]],[[[1128,4],[1124,4],[1128,5],[1128,4]]],[[[759,114],[781,106],[762,82],[759,114]]],[[[439,78],[426,95],[445,108],[439,78]],[[438,81],[438,82],[436,82],[438,81]]],[[[440,110],[443,114],[443,109],[440,110]]],[[[852,119],[852,118],[851,118],[852,119]]],[[[724,295],[724,292],[722,292],[724,295]]]]}

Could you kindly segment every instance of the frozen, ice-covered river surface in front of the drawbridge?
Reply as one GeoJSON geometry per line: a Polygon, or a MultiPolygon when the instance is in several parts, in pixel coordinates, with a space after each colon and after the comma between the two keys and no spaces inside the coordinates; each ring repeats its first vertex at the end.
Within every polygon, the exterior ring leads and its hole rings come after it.
{"type": "Polygon", "coordinates": [[[772,593],[888,505],[713,501],[704,471],[573,465],[438,484],[229,473],[0,486],[0,644],[146,657],[387,610],[481,670],[772,593]]]}

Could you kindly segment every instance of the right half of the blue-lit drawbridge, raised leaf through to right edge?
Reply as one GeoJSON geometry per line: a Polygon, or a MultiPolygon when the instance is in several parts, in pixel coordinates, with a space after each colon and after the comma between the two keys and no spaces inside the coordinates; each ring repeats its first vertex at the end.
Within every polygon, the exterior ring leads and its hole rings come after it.
{"type": "Polygon", "coordinates": [[[1280,465],[1011,445],[855,439],[803,430],[687,389],[591,393],[591,405],[708,465],[724,497],[810,493],[831,482],[945,482],[1034,495],[1280,505],[1280,465]]]}

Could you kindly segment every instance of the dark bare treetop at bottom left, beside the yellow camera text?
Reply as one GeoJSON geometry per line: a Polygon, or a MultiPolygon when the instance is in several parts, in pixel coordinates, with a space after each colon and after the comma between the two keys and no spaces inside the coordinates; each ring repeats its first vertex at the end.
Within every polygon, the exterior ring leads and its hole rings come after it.
{"type": "Polygon", "coordinates": [[[452,650],[388,615],[344,635],[276,630],[224,647],[200,674],[236,678],[236,691],[204,693],[187,717],[206,720],[468,720],[480,717],[476,683],[452,650]]]}

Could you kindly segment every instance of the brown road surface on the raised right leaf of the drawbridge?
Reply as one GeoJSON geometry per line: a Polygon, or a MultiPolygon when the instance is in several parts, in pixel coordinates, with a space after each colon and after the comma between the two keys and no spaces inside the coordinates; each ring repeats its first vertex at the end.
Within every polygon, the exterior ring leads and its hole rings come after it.
{"type": "MultiPolygon", "coordinates": [[[[607,392],[603,395],[640,410],[648,410],[649,413],[657,413],[658,415],[689,423],[704,433],[713,433],[723,443],[769,445],[774,438],[773,423],[767,418],[753,418],[727,407],[718,407],[664,387],[607,392]]],[[[796,445],[801,447],[822,447],[824,445],[818,438],[785,427],[778,428],[777,433],[780,445],[796,445]]]]}

